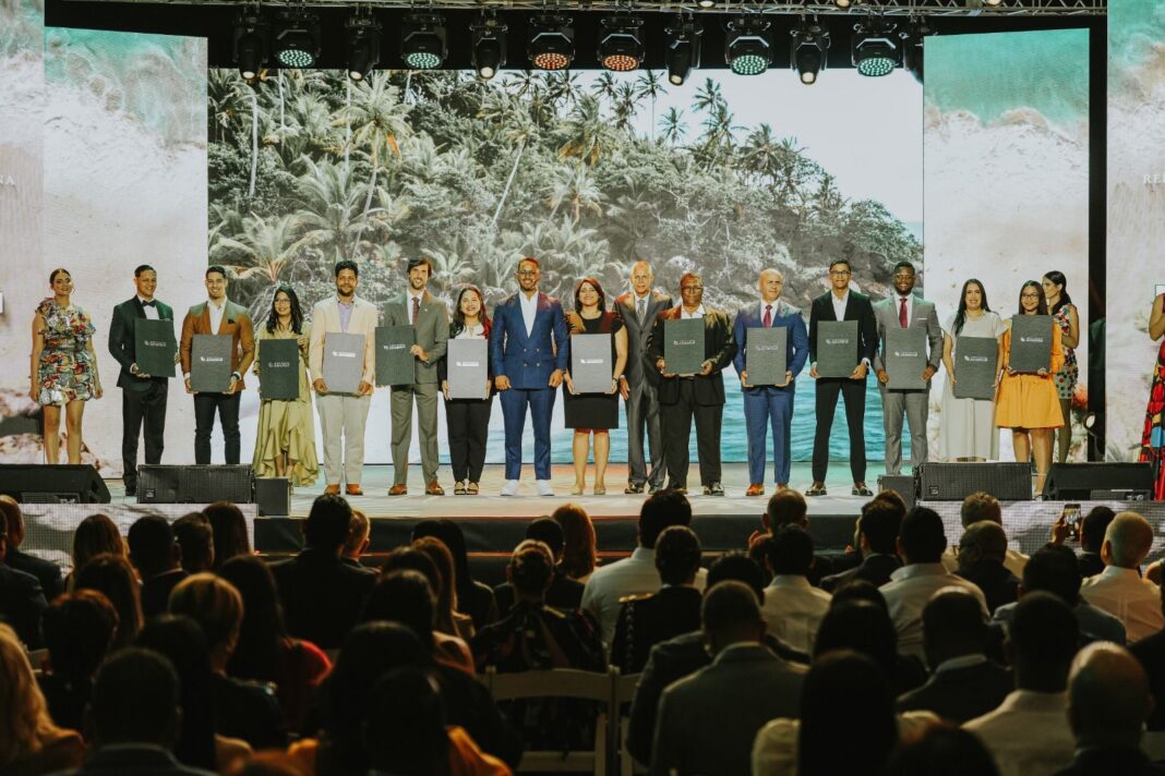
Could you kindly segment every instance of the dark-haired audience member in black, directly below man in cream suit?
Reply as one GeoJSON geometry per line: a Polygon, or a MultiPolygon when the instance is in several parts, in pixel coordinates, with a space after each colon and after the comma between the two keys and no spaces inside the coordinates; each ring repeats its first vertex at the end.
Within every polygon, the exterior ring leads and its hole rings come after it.
{"type": "Polygon", "coordinates": [[[288,633],[320,649],[340,646],[360,621],[363,599],[376,581],[370,571],[340,560],[351,521],[352,508],[343,497],[318,497],[303,525],[306,547],[271,565],[288,633]]]}

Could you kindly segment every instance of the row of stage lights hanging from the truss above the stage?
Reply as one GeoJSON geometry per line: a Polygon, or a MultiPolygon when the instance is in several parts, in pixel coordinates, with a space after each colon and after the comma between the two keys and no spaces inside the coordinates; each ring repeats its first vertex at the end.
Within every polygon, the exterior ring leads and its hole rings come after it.
{"type": "MultiPolygon", "coordinates": [[[[712,7],[711,0],[708,7],[712,7]]],[[[845,0],[842,0],[845,2],[845,0]]],[[[846,7],[848,2],[838,2],[846,7]]],[[[701,2],[702,6],[702,2],[701,2]]],[[[545,12],[530,19],[527,59],[535,70],[566,70],[574,60],[574,28],[563,13],[545,12]]],[[[725,62],[740,76],[763,73],[772,64],[772,22],[761,14],[740,14],[726,23],[725,62]]],[[[472,26],[472,62],[478,76],[493,78],[506,65],[508,27],[490,13],[472,26]]],[[[702,24],[692,15],[677,15],[665,28],[668,80],[680,85],[700,66],[702,24]]],[[[922,78],[923,38],[932,30],[925,20],[906,27],[871,15],[854,26],[852,62],[862,76],[887,76],[905,66],[922,78]]],[[[803,84],[814,84],[825,70],[829,33],[816,19],[802,17],[790,29],[791,67],[803,84]]],[[[354,10],[345,23],[347,72],[363,80],[381,64],[383,29],[368,10],[354,10]]],[[[233,55],[242,77],[250,80],[270,55],[284,67],[311,67],[320,54],[319,16],[310,10],[280,10],[269,21],[257,8],[240,10],[234,20],[233,55]]],[[[410,70],[433,70],[449,54],[444,17],[433,12],[404,16],[400,29],[401,64],[410,70]]],[[[599,63],[607,70],[638,69],[645,56],[643,19],[616,13],[600,20],[599,63]]]]}

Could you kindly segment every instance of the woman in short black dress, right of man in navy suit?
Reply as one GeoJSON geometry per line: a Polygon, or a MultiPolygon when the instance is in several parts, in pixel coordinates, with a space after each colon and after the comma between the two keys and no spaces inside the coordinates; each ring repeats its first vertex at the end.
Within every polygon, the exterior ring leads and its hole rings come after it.
{"type": "MultiPolygon", "coordinates": [[[[571,371],[563,375],[563,415],[566,428],[574,429],[572,454],[574,457],[574,487],[571,496],[581,496],[586,489],[586,460],[591,453],[591,434],[594,434],[594,494],[607,492],[605,476],[607,458],[610,456],[610,429],[619,428],[619,397],[628,396],[627,377],[627,329],[615,311],[607,309],[607,294],[594,278],[582,278],[574,286],[574,312],[566,315],[571,336],[578,334],[603,334],[610,339],[610,387],[603,393],[578,390],[571,371]]],[[[573,347],[572,347],[573,353],[573,347]]]]}

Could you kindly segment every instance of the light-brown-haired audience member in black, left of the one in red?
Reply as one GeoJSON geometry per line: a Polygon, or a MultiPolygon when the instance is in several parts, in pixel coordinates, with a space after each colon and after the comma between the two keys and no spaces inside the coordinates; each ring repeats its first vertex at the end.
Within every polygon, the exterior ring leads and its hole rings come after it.
{"type": "Polygon", "coordinates": [[[287,746],[283,713],[271,686],[226,675],[242,626],[242,596],[234,585],[207,572],[186,577],[170,593],[170,612],[193,619],[206,636],[216,732],[255,749],[287,746]]]}

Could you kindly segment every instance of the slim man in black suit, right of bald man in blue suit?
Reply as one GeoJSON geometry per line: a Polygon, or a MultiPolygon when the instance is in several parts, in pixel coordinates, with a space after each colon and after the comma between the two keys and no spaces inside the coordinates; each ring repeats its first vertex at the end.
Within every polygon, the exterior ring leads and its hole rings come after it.
{"type": "Polygon", "coordinates": [[[849,427],[849,471],[854,476],[854,496],[873,496],[866,486],[866,375],[877,354],[877,326],[870,298],[849,290],[849,262],[838,258],[829,263],[829,291],[813,300],[809,316],[810,375],[817,379],[817,433],[813,435],[813,485],[805,496],[825,496],[825,475],[829,469],[829,432],[838,394],[846,403],[849,427]],[[817,332],[821,321],[857,321],[859,364],[849,377],[818,377],[817,332]]]}

